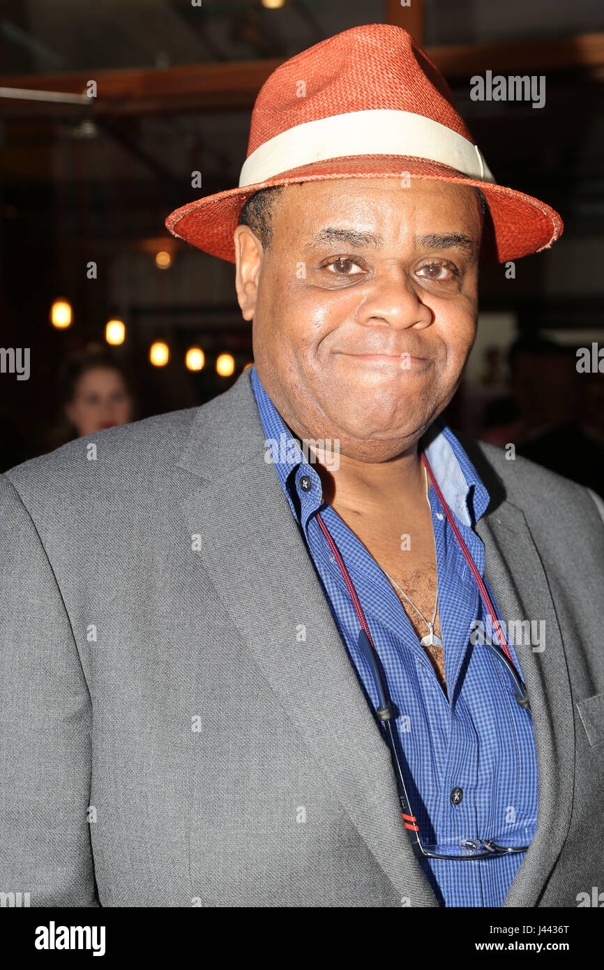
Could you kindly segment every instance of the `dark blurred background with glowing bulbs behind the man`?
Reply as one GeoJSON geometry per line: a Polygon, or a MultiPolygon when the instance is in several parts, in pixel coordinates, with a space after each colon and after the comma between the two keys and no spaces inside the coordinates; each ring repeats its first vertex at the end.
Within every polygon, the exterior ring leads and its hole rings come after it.
{"type": "Polygon", "coordinates": [[[279,63],[378,21],[427,49],[495,178],[565,223],[551,250],[483,270],[445,419],[604,494],[601,0],[0,0],[0,470],[202,404],[251,363],[234,267],[164,219],[238,184],[279,63]],[[487,71],[544,75],[545,106],[472,101],[487,71]],[[25,347],[18,380],[6,350],[25,347]]]}

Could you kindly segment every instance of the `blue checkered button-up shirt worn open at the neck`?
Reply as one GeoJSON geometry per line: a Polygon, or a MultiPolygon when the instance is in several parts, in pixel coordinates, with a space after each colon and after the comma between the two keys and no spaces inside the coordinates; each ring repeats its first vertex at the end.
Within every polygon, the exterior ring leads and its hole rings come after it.
{"type": "MultiPolygon", "coordinates": [[[[411,775],[407,790],[424,843],[493,838],[537,815],[537,768],[530,713],[517,703],[502,665],[486,647],[472,646],[473,622],[486,611],[433,487],[429,488],[438,607],[444,644],[444,694],[397,594],[365,545],[322,498],[321,480],[272,404],[256,368],[251,383],[264,426],[266,446],[306,546],[331,603],[337,629],[355,666],[372,711],[374,685],[358,645],[360,624],[352,598],[315,513],[340,551],[366,615],[388,689],[400,712],[397,743],[411,775]],[[269,444],[269,442],[274,442],[269,444]],[[312,486],[304,491],[302,476],[312,486]],[[459,804],[451,792],[461,789],[459,804]]],[[[475,525],[489,494],[451,430],[437,419],[439,434],[426,447],[432,473],[456,517],[474,563],[484,579],[485,549],[475,525]]],[[[487,588],[489,589],[488,585],[487,588]]],[[[489,590],[491,598],[493,593],[489,590]]],[[[495,607],[499,620],[501,617],[495,607]]],[[[522,675],[513,647],[516,669],[522,675]]],[[[354,744],[354,738],[351,738],[354,744]]],[[[403,761],[404,763],[404,761],[403,761]]],[[[440,906],[501,906],[525,853],[487,859],[429,859],[420,865],[440,906]]]]}

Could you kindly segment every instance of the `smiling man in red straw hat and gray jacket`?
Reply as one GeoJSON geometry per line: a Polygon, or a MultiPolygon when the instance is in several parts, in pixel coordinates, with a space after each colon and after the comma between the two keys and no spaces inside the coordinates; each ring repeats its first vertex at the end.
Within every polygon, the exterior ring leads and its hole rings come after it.
{"type": "Polygon", "coordinates": [[[240,187],[170,217],[236,262],[255,367],[4,476],[0,888],[493,907],[601,885],[602,506],[438,417],[483,198],[500,259],[561,231],[372,24],[278,68],[240,187]]]}

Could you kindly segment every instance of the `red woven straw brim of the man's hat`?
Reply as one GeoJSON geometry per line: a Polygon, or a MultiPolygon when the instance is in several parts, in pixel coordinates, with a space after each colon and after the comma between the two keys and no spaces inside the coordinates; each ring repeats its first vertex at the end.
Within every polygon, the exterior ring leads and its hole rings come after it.
{"type": "Polygon", "coordinates": [[[254,185],[227,189],[190,202],[168,216],[166,227],[176,238],[235,263],[233,234],[240,211],[260,189],[332,178],[402,178],[406,173],[412,179],[479,188],[489,204],[496,259],[500,263],[547,249],[562,233],[563,223],[556,210],[539,199],[505,185],[464,176],[429,159],[404,155],[347,156],[303,165],[254,185]]]}

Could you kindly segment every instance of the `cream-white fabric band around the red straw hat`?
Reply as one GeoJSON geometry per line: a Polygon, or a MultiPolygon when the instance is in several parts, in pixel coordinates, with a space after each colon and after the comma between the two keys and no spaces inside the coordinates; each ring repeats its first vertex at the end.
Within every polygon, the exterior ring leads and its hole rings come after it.
{"type": "Polygon", "coordinates": [[[239,188],[312,162],[350,155],[411,155],[494,182],[478,146],[423,114],[376,109],[305,121],[270,138],[245,159],[239,188]]]}

